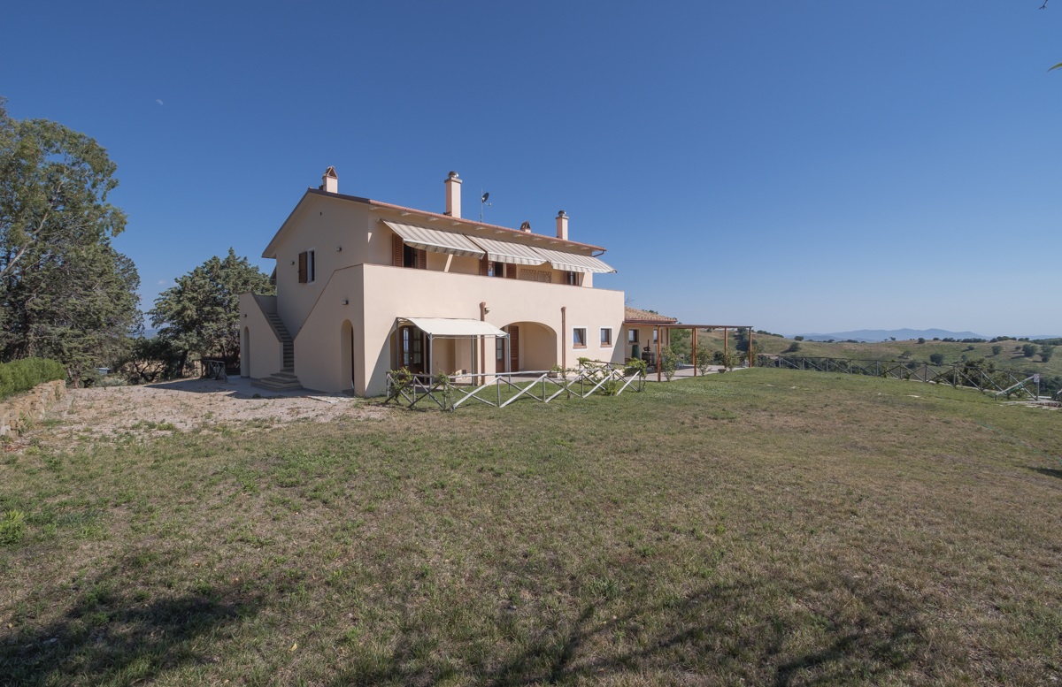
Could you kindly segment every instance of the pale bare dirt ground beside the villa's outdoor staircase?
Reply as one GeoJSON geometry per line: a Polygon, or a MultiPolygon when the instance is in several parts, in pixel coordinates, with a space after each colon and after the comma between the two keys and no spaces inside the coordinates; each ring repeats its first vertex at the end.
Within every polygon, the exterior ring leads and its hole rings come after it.
{"type": "Polygon", "coordinates": [[[185,380],[166,384],[68,389],[45,421],[4,448],[28,445],[71,447],[76,443],[107,442],[192,429],[238,428],[253,422],[254,430],[291,422],[369,420],[389,411],[378,403],[342,394],[312,391],[272,394],[245,380],[230,383],[185,380]],[[258,397],[258,398],[255,398],[258,397]]]}

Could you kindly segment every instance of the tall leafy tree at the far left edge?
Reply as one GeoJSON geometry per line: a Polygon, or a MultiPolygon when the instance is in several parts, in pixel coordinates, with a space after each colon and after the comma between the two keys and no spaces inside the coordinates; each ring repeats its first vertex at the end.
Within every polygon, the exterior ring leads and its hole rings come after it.
{"type": "Polygon", "coordinates": [[[95,140],[14,120],[0,100],[0,356],[59,360],[74,385],[109,365],[142,316],[133,262],[110,239],[117,165],[95,140]]]}

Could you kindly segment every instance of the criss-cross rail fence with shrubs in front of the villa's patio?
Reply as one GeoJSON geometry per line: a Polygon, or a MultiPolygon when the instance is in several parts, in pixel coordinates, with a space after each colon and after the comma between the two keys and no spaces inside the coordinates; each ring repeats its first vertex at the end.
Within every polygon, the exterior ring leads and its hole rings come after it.
{"type": "Polygon", "coordinates": [[[594,393],[619,395],[629,388],[641,391],[646,375],[623,365],[589,363],[572,370],[534,370],[483,374],[435,375],[392,370],[387,374],[388,398],[408,408],[430,400],[443,410],[457,410],[476,401],[504,408],[518,399],[549,403],[564,397],[586,399],[594,393]]]}

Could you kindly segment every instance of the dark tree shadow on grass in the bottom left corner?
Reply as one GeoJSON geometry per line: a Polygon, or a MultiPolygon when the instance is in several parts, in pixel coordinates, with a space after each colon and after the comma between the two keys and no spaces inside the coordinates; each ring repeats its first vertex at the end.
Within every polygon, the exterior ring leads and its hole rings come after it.
{"type": "Polygon", "coordinates": [[[4,684],[151,681],[166,670],[212,662],[201,638],[262,607],[260,597],[232,586],[150,602],[105,582],[86,589],[58,620],[0,645],[4,684]]]}

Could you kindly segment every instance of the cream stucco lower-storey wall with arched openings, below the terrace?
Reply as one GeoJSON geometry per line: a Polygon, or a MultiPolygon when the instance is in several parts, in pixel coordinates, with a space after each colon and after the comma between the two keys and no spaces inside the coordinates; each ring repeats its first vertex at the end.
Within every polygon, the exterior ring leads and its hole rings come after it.
{"type": "MultiPolygon", "coordinates": [[[[358,369],[354,390],[378,395],[384,390],[384,373],[392,367],[391,334],[396,317],[451,317],[479,319],[479,304],[485,301],[486,320],[496,327],[518,322],[539,322],[555,332],[549,336],[527,330],[521,337],[521,367],[548,368],[547,360],[568,366],[580,356],[600,360],[622,359],[622,347],[602,348],[601,327],[612,327],[615,336],[622,330],[622,292],[581,288],[563,284],[539,284],[475,275],[444,274],[384,265],[356,265],[332,275],[318,299],[312,315],[295,337],[295,374],[303,386],[322,391],[349,388],[341,378],[340,338],[344,319],[355,332],[358,369]],[[346,303],[344,304],[344,301],[346,303]],[[363,306],[363,307],[362,307],[363,306]],[[561,309],[566,307],[568,328],[562,332],[561,309]],[[571,346],[573,322],[586,325],[587,347],[571,346]],[[551,351],[532,351],[533,344],[548,345],[551,351]],[[535,363],[537,365],[530,365],[535,363]],[[360,374],[359,374],[360,373],[360,374]]],[[[523,332],[521,332],[523,334],[523,332]]],[[[470,360],[458,345],[451,365],[470,369],[470,360]],[[467,364],[466,364],[467,363],[467,364]]],[[[449,349],[440,350],[449,355],[449,349]]],[[[493,340],[487,340],[484,372],[494,371],[493,340]]],[[[441,364],[449,363],[441,358],[441,364]]],[[[445,371],[450,372],[451,369],[445,371]]]]}

